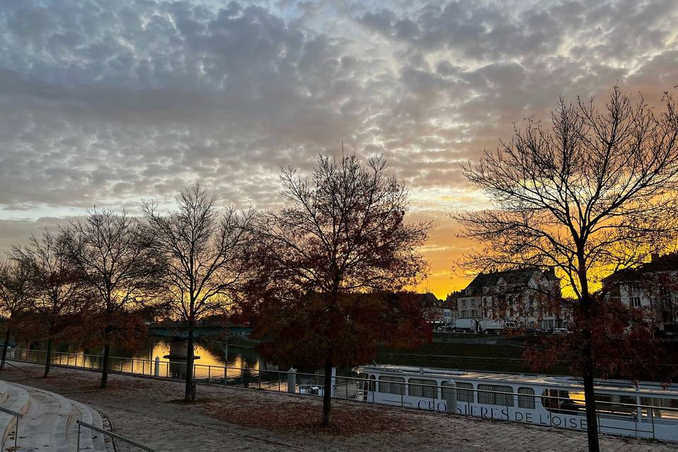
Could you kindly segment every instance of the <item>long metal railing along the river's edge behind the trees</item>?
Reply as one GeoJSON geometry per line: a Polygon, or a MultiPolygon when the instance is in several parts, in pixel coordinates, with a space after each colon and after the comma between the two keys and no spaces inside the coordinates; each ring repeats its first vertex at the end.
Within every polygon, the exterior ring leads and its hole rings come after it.
{"type": "MultiPolygon", "coordinates": [[[[44,350],[13,349],[9,359],[27,362],[44,362],[44,350]]],[[[61,366],[84,369],[102,369],[102,356],[83,353],[52,352],[52,362],[61,366]]],[[[182,380],[186,376],[186,362],[168,362],[153,359],[110,357],[109,371],[123,374],[155,376],[182,380]]],[[[194,364],[194,378],[198,383],[218,386],[240,386],[266,391],[320,396],[324,376],[303,372],[253,369],[244,367],[194,364]],[[290,379],[290,376],[294,379],[290,379]],[[288,386],[293,382],[294,387],[288,386]]],[[[422,375],[422,378],[425,376],[422,375]]],[[[514,393],[485,388],[469,388],[460,383],[456,387],[405,381],[376,381],[355,376],[333,376],[331,396],[343,400],[379,403],[403,408],[416,408],[434,412],[447,412],[468,417],[482,417],[506,422],[538,424],[549,428],[585,429],[585,404],[573,399],[567,391],[551,393],[514,393]],[[552,395],[557,393],[557,395],[552,395]],[[451,397],[453,396],[453,397],[451,397]],[[453,398],[454,407],[448,407],[453,398]],[[538,410],[546,414],[542,416],[538,410]],[[539,415],[538,418],[534,416],[539,415]],[[533,416],[534,415],[534,416],[533,416]]],[[[495,383],[491,383],[497,386],[495,383]]],[[[499,385],[501,386],[501,385],[499,385]]],[[[510,388],[510,386],[506,386],[510,388]]],[[[636,395],[615,396],[618,400],[596,400],[598,429],[601,433],[634,436],[649,439],[678,441],[678,400],[673,405],[661,405],[659,397],[636,395]],[[623,399],[623,400],[622,400],[623,399]],[[633,401],[631,401],[633,399],[633,401]],[[660,405],[653,405],[659,400],[660,405]]]]}

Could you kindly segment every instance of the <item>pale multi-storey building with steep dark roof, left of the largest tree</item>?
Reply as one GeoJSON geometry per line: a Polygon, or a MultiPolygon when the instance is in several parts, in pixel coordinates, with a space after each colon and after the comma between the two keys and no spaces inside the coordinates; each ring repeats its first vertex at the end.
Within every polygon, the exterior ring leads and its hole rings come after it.
{"type": "Polygon", "coordinates": [[[455,319],[504,320],[520,326],[564,328],[560,278],[553,268],[516,268],[479,273],[447,302],[456,307],[455,319]]]}

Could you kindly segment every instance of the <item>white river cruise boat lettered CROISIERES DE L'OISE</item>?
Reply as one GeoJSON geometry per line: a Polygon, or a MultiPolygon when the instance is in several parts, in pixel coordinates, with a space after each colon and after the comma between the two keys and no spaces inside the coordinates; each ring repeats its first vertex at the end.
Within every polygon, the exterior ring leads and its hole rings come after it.
{"type": "MultiPolygon", "coordinates": [[[[583,383],[573,377],[393,365],[355,371],[367,402],[586,429],[583,383]]],[[[595,393],[600,433],[678,441],[678,386],[600,380],[595,393]]]]}

